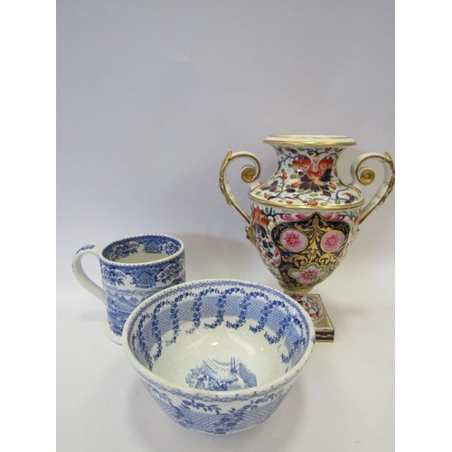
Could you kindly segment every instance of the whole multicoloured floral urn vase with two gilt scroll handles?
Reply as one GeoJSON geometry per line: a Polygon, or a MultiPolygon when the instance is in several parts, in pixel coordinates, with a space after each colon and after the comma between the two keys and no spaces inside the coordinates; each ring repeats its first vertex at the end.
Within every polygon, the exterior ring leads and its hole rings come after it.
{"type": "Polygon", "coordinates": [[[344,184],[337,174],[337,160],[345,148],[356,145],[352,138],[271,136],[264,143],[277,153],[275,174],[260,183],[259,159],[230,150],[221,165],[221,192],[247,221],[247,237],[280,287],[311,315],[316,340],[331,342],[334,327],[322,299],[310,291],[337,268],[359,225],[391,193],[395,180],[391,155],[360,155],[351,168],[352,184],[344,184]],[[239,157],[255,164],[241,170],[242,180],[251,188],[250,214],[241,208],[226,179],[228,166],[239,157]],[[381,162],[384,178],[366,203],[363,186],[372,184],[375,173],[363,164],[371,159],[381,162]]]}

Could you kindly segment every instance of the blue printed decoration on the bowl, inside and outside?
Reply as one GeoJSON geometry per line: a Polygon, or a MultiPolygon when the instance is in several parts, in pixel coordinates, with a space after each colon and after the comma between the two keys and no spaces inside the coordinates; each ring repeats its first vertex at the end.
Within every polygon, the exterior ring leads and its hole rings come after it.
{"type": "MultiPolygon", "coordinates": [[[[212,330],[222,325],[263,335],[268,344],[281,350],[286,372],[315,342],[314,328],[303,308],[268,287],[228,280],[197,281],[165,292],[153,297],[152,304],[140,306],[124,338],[137,361],[149,371],[181,332],[184,337],[200,328],[212,330]],[[202,320],[207,317],[212,320],[202,320]]],[[[163,385],[152,374],[139,373],[147,391],[175,422],[184,428],[226,435],[268,419],[300,370],[298,367],[278,383],[260,389],[254,372],[234,356],[230,362],[205,359],[193,367],[185,377],[186,390],[163,385]],[[256,391],[243,392],[248,388],[256,391]]]]}

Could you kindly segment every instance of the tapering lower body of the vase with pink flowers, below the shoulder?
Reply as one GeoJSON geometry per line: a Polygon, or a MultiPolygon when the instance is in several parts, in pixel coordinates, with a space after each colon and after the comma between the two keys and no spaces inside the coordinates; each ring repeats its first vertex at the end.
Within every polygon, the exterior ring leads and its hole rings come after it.
{"type": "Polygon", "coordinates": [[[285,290],[311,290],[336,268],[357,232],[360,210],[281,212],[251,202],[261,259],[285,290]]]}

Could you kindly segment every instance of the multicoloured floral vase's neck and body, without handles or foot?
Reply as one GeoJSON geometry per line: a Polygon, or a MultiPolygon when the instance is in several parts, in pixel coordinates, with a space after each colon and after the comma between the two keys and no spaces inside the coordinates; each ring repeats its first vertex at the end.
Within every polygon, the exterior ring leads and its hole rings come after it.
{"type": "Polygon", "coordinates": [[[268,137],[277,171],[249,193],[252,241],[287,292],[307,292],[337,268],[356,236],[364,202],[337,174],[337,159],[353,140],[311,141],[268,137]]]}

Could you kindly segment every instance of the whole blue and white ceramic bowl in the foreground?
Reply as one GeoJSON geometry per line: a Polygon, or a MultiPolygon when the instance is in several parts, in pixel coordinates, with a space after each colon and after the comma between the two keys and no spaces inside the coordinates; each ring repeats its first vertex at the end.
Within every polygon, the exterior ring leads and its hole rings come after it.
{"type": "Polygon", "coordinates": [[[129,316],[123,344],[157,404],[225,435],[268,419],[315,343],[303,307],[273,288],[207,279],[164,289],[129,316]]]}

